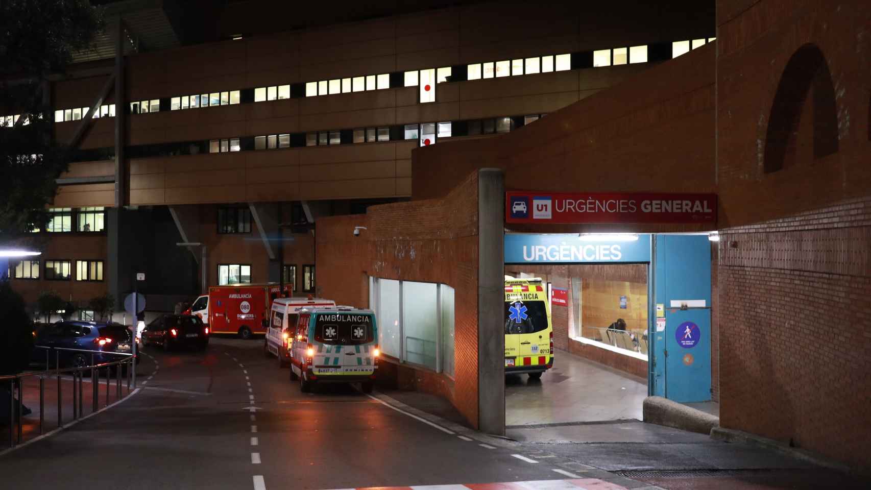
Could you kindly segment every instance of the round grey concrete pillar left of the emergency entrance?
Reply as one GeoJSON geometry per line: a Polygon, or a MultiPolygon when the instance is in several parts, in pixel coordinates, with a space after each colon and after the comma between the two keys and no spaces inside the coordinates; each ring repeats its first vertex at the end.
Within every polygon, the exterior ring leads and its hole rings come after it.
{"type": "Polygon", "coordinates": [[[478,171],[478,428],[505,433],[505,176],[478,171]]]}

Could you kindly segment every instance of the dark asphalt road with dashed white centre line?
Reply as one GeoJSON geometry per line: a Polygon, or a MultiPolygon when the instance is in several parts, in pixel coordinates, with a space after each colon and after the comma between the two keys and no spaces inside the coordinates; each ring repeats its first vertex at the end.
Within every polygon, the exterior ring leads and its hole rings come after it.
{"type": "Polygon", "coordinates": [[[138,393],[0,456],[4,483],[260,490],[566,478],[545,461],[461,439],[348,386],[300,393],[262,345],[213,339],[206,352],[146,348],[138,393]]]}

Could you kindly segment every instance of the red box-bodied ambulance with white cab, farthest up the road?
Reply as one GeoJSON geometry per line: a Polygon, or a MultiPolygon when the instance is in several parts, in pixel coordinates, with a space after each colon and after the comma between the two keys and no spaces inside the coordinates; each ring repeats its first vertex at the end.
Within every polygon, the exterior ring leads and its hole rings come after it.
{"type": "Polygon", "coordinates": [[[284,294],[280,291],[276,283],[213,285],[184,314],[202,319],[212,333],[235,333],[251,339],[254,334],[266,334],[273,299],[290,296],[290,285],[285,286],[284,294]]]}

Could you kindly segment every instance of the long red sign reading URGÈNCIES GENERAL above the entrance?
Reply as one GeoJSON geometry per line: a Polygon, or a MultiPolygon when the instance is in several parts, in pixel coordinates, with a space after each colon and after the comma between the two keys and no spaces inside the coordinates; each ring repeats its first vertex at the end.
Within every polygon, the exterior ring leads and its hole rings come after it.
{"type": "Polygon", "coordinates": [[[505,193],[505,222],[714,225],[717,195],[509,191],[505,193]]]}

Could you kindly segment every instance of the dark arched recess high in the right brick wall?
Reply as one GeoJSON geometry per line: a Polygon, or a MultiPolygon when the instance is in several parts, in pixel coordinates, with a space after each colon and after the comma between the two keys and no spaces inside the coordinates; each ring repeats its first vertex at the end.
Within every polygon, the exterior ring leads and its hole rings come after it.
{"type": "Polygon", "coordinates": [[[826,57],[815,44],[805,44],[796,50],[780,76],[768,118],[765,173],[780,171],[795,163],[802,115],[812,118],[814,159],[838,151],[832,74],[826,57]],[[811,99],[809,105],[808,98],[811,99]]]}

